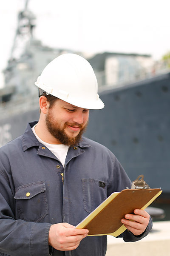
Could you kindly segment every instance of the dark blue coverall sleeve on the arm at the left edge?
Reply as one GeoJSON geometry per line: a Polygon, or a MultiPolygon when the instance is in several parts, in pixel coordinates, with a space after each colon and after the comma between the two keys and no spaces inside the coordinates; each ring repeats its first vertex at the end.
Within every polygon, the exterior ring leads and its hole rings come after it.
{"type": "Polygon", "coordinates": [[[49,223],[15,219],[11,184],[0,170],[0,252],[11,256],[49,256],[49,223]]]}

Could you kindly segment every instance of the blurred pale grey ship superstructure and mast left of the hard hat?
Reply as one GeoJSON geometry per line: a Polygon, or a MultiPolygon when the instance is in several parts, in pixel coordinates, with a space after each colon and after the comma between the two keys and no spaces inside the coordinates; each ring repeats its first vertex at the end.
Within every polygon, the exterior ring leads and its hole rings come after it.
{"type": "Polygon", "coordinates": [[[11,56],[4,70],[5,87],[0,90],[1,118],[24,112],[28,108],[36,108],[38,101],[34,82],[37,77],[55,57],[71,52],[66,49],[43,46],[40,40],[35,39],[35,19],[35,15],[28,10],[28,0],[26,0],[25,9],[18,14],[11,56]],[[26,106],[26,102],[29,106],[26,106]]]}

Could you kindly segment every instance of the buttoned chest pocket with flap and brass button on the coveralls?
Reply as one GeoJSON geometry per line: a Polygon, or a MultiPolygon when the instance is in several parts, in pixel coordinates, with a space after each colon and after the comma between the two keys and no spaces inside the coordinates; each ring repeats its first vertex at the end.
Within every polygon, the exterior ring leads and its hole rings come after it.
{"type": "Polygon", "coordinates": [[[15,191],[20,219],[39,222],[48,214],[45,182],[32,182],[22,185],[15,191]]]}

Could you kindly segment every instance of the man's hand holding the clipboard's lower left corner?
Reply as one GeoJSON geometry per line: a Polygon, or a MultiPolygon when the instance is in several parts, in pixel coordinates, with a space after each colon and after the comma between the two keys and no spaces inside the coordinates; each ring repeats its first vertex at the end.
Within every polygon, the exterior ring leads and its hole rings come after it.
{"type": "Polygon", "coordinates": [[[87,234],[87,229],[77,229],[68,223],[54,224],[49,230],[48,245],[57,250],[75,250],[87,234]]]}

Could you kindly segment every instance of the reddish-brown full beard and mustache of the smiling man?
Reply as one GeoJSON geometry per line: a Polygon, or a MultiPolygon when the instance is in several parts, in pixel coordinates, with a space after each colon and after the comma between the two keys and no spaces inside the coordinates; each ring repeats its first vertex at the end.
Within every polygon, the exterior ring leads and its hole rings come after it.
{"type": "MultiPolygon", "coordinates": [[[[82,134],[86,131],[88,122],[83,126],[82,124],[78,124],[76,122],[74,123],[68,123],[65,122],[64,126],[61,128],[61,125],[59,122],[54,122],[53,115],[51,111],[48,111],[46,118],[45,118],[45,124],[50,132],[50,134],[57,139],[61,144],[69,147],[74,147],[77,145],[81,139],[82,139],[82,134]],[[78,126],[80,128],[79,134],[76,137],[70,137],[66,134],[65,128],[70,125],[70,126],[78,126]]],[[[74,132],[73,132],[74,134],[74,132]]]]}

